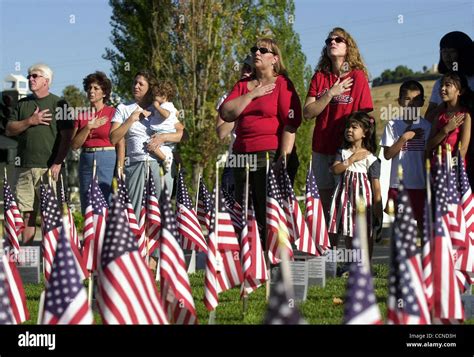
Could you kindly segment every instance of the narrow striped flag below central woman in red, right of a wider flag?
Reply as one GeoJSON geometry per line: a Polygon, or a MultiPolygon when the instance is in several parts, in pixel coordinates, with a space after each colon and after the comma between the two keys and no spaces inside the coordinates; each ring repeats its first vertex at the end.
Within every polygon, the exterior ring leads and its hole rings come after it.
{"type": "Polygon", "coordinates": [[[263,254],[257,220],[251,201],[242,229],[242,270],[244,283],[240,296],[248,295],[268,280],[267,264],[263,254]]]}

